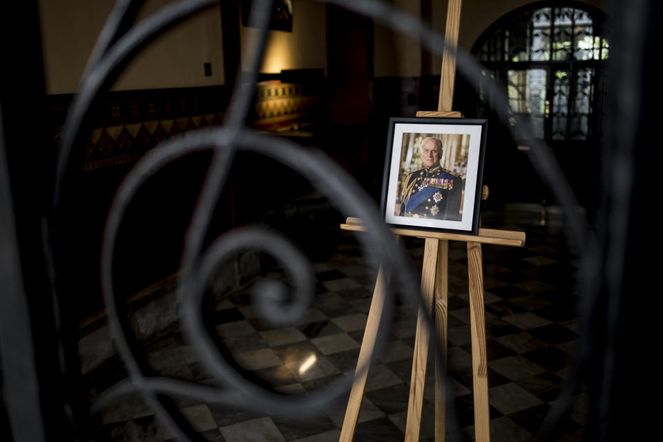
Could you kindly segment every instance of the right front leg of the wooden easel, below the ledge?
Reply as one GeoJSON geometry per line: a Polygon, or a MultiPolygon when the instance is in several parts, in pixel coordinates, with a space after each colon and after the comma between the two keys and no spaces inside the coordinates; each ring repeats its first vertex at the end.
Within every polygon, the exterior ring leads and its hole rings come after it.
{"type": "Polygon", "coordinates": [[[472,381],[474,385],[474,432],[477,442],[490,441],[488,415],[488,357],[486,316],[483,302],[483,256],[481,243],[468,242],[470,273],[470,322],[472,330],[472,381]]]}

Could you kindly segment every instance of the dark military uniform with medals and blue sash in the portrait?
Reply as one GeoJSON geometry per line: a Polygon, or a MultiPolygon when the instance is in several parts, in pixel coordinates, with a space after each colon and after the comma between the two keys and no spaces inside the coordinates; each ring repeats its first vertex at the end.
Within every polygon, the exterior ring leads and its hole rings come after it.
{"type": "Polygon", "coordinates": [[[407,175],[401,191],[401,216],[459,220],[463,179],[460,175],[434,166],[407,175]]]}

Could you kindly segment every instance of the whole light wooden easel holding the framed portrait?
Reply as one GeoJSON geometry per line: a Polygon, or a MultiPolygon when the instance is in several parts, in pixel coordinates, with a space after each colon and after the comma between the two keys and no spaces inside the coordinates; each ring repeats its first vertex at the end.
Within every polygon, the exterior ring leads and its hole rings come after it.
{"type": "MultiPolygon", "coordinates": [[[[452,46],[458,42],[462,0],[449,0],[445,39],[452,46]]],[[[461,113],[452,112],[454,94],[454,78],[456,75],[456,59],[444,52],[440,79],[440,97],[436,112],[419,111],[417,117],[461,117],[461,113]]],[[[486,186],[482,189],[482,199],[488,196],[486,186]]],[[[358,218],[348,218],[341,229],[365,231],[358,218]]],[[[483,256],[481,244],[498,244],[512,247],[523,247],[525,233],[479,229],[477,236],[456,233],[434,233],[411,229],[392,229],[398,236],[416,236],[425,238],[423,268],[421,269],[421,296],[429,311],[419,310],[416,321],[416,338],[414,340],[414,357],[412,359],[412,379],[410,383],[410,400],[407,404],[407,423],[405,424],[405,441],[419,440],[421,426],[421,406],[423,404],[423,388],[428,357],[429,329],[423,315],[434,314],[436,338],[443,353],[447,346],[447,305],[448,305],[448,259],[449,241],[467,242],[468,276],[470,280],[470,330],[472,337],[472,385],[474,387],[474,431],[476,440],[490,441],[488,416],[488,358],[486,356],[486,318],[483,302],[483,256]]],[[[370,363],[376,342],[378,324],[381,320],[385,303],[385,287],[383,286],[383,269],[378,272],[378,280],[373,293],[371,307],[364,337],[359,351],[358,367],[370,363]]],[[[436,365],[446,361],[436,361],[436,365]]],[[[439,378],[439,369],[435,374],[435,440],[445,438],[445,399],[444,383],[439,378]]],[[[351,442],[356,430],[359,409],[364,396],[368,370],[356,372],[352,390],[345,410],[340,442],[351,442]]]]}

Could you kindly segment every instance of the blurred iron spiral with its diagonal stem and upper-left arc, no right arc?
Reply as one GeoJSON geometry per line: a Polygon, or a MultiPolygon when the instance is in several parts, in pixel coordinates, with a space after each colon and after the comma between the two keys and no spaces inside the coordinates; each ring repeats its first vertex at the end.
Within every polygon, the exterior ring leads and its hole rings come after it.
{"type": "MultiPolygon", "coordinates": [[[[131,13],[131,2],[124,2],[124,12],[131,13]]],[[[106,50],[99,49],[104,44],[97,44],[97,52],[104,52],[96,63],[91,63],[88,75],[81,84],[81,92],[68,116],[68,122],[63,137],[63,147],[59,158],[55,204],[60,202],[62,183],[66,177],[68,163],[71,162],[71,153],[81,139],[82,128],[85,126],[85,118],[90,106],[93,106],[95,98],[106,86],[112,84],[117,73],[126,65],[131,56],[153,39],[159,32],[172,26],[177,21],[191,15],[196,10],[209,6],[211,1],[193,1],[190,3],[176,3],[164,8],[162,12],[150,17],[144,23],[129,30],[122,37],[118,37],[106,50]]],[[[262,5],[264,10],[269,10],[268,2],[262,5]]],[[[115,23],[126,21],[115,15],[115,23]]],[[[258,15],[264,20],[267,15],[258,15]]],[[[258,48],[253,52],[253,70],[251,83],[255,82],[256,73],[262,60],[262,48],[265,46],[266,24],[262,23],[262,39],[258,48]]],[[[108,44],[113,41],[117,32],[106,33],[108,44]]],[[[385,229],[384,224],[378,217],[374,202],[365,194],[352,177],[349,177],[340,167],[328,160],[321,153],[311,153],[298,146],[261,137],[249,133],[242,128],[244,115],[249,108],[251,95],[250,88],[236,90],[228,115],[231,117],[224,128],[203,129],[184,134],[177,139],[164,143],[154,155],[142,158],[140,162],[126,176],[120,185],[113,205],[108,213],[108,220],[104,233],[104,245],[102,253],[102,288],[106,311],[118,351],[126,365],[129,378],[124,383],[119,383],[103,394],[97,403],[95,410],[100,410],[119,396],[132,392],[142,392],[151,407],[166,423],[171,432],[177,437],[189,439],[195,438],[195,432],[186,419],[180,415],[177,408],[164,397],[164,394],[185,395],[203,398],[207,401],[229,403],[238,407],[263,410],[273,414],[306,415],[321,412],[329,407],[336,398],[349,388],[350,379],[343,376],[330,383],[326,387],[298,396],[283,396],[271,392],[256,385],[237,372],[228,361],[218,352],[213,339],[204,329],[202,318],[198,315],[200,302],[204,293],[205,283],[215,264],[229,254],[247,247],[258,247],[275,255],[282,262],[287,263],[289,275],[294,280],[295,294],[287,296],[285,287],[278,285],[275,281],[263,281],[256,286],[254,299],[258,311],[262,311],[271,323],[283,324],[296,319],[306,311],[314,294],[314,283],[310,266],[301,254],[280,236],[268,233],[258,228],[238,229],[226,233],[214,242],[209,249],[202,250],[201,244],[207,227],[209,226],[211,213],[216,204],[218,193],[224,184],[233,157],[237,151],[246,150],[272,157],[274,160],[286,164],[314,182],[319,190],[327,193],[329,200],[346,215],[359,215],[371,227],[369,233],[361,236],[368,255],[373,257],[378,264],[378,256],[385,260],[381,262],[383,267],[400,269],[397,280],[405,282],[409,287],[405,292],[416,294],[416,278],[407,263],[403,260],[403,253],[398,251],[391,234],[385,229]],[[128,324],[123,302],[118,302],[113,287],[112,262],[115,247],[115,238],[122,222],[124,210],[137,189],[148,180],[148,178],[160,170],[169,162],[175,161],[182,155],[195,151],[213,151],[212,165],[209,169],[205,184],[202,189],[198,204],[193,213],[191,225],[186,233],[184,256],[182,260],[182,271],[180,272],[180,293],[182,294],[182,317],[184,330],[202,356],[204,365],[218,376],[218,387],[197,385],[175,379],[160,378],[152,376],[148,365],[142,356],[140,345],[137,344],[131,326],[128,324]],[[323,178],[321,178],[323,177],[323,178]],[[284,298],[290,300],[284,302],[284,298]]],[[[387,302],[391,305],[391,302],[387,302]]],[[[388,312],[383,315],[389,318],[388,312]]],[[[385,340],[388,325],[384,323],[380,327],[380,343],[385,340]]],[[[379,344],[378,343],[378,347],[379,344]]],[[[359,367],[360,370],[368,367],[359,367]]]]}

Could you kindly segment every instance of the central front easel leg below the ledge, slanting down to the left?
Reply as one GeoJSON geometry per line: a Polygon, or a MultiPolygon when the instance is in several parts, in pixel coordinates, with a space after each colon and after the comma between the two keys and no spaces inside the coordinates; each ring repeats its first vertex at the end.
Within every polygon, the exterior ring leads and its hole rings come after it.
{"type": "Polygon", "coordinates": [[[419,309],[416,319],[416,338],[414,339],[414,358],[412,358],[410,400],[407,402],[405,442],[419,441],[429,338],[428,325],[424,315],[430,315],[432,310],[438,248],[439,240],[426,238],[423,251],[423,269],[421,271],[421,296],[423,296],[423,302],[428,311],[419,309]]]}

